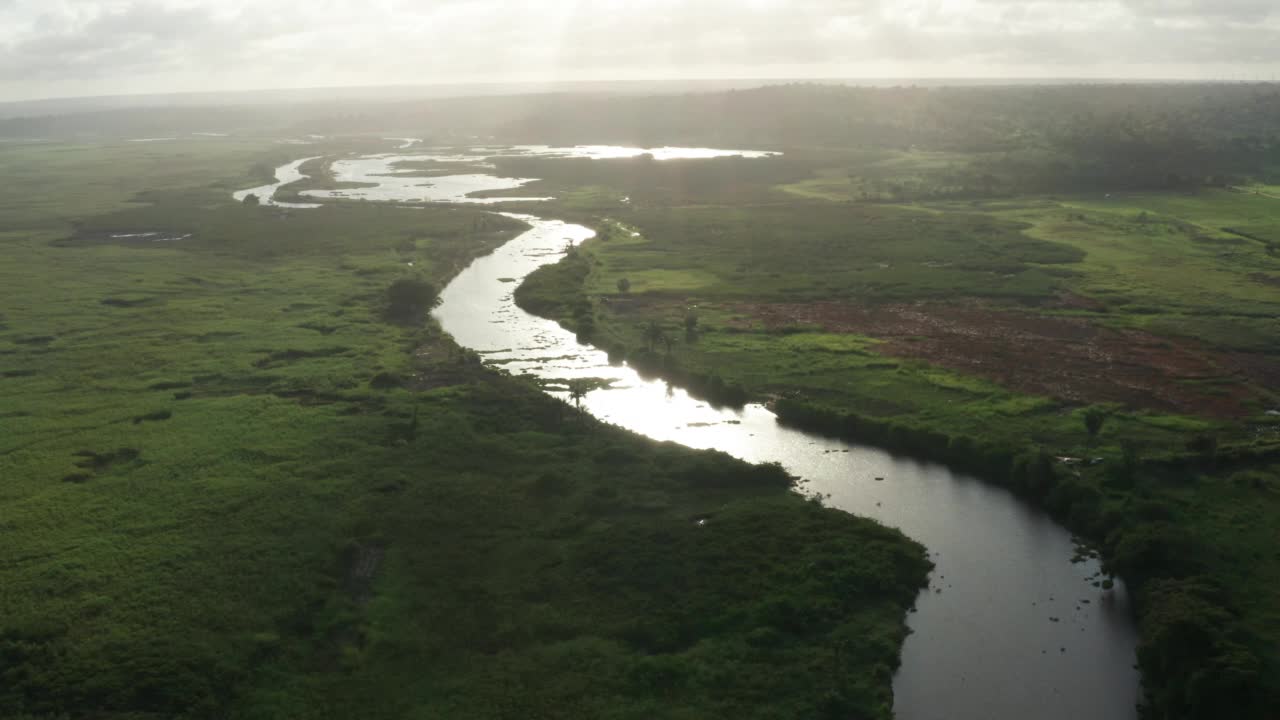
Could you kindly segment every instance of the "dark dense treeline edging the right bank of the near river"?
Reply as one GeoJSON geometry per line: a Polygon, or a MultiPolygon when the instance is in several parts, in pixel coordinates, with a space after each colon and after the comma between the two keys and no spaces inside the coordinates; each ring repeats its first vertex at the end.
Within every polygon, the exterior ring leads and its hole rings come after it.
{"type": "MultiPolygon", "coordinates": [[[[933,460],[1001,484],[1097,541],[1105,570],[1123,577],[1134,598],[1147,716],[1261,719],[1280,702],[1272,651],[1244,626],[1212,561],[1174,521],[1175,509],[1144,491],[1148,482],[1184,482],[1170,475],[1185,475],[1203,456],[1148,464],[1126,454],[1108,460],[1097,479],[1065,471],[1044,448],[950,436],[794,398],[778,400],[774,410],[781,423],[800,429],[933,460]]],[[[1213,462],[1258,459],[1242,448],[1220,452],[1213,462]]]]}

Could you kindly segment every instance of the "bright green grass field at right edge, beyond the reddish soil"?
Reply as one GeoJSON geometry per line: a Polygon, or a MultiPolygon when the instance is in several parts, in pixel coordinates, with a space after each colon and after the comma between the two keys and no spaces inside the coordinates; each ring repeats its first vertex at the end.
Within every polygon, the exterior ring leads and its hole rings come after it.
{"type": "MultiPolygon", "coordinates": [[[[995,209],[1028,234],[1085,252],[1070,288],[1102,304],[1107,323],[1203,340],[1215,347],[1280,348],[1280,256],[1226,228],[1280,223],[1280,201],[1230,192],[1079,199],[995,209]],[[1194,282],[1189,282],[1193,279],[1194,282]]],[[[1251,231],[1245,231],[1251,232],[1251,231]]]]}

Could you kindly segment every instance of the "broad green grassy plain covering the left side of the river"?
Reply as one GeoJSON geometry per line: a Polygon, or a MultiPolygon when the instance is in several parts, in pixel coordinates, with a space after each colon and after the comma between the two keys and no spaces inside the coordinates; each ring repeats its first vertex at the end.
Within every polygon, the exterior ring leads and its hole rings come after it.
{"type": "Polygon", "coordinates": [[[300,150],[0,146],[0,716],[888,717],[923,548],[389,323],[518,225],[300,150]]]}

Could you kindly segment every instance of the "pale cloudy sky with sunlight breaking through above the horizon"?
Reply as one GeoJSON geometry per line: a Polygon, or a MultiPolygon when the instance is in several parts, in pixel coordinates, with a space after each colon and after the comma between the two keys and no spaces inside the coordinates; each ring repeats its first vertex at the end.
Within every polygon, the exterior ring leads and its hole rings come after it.
{"type": "Polygon", "coordinates": [[[1280,0],[0,0],[0,100],[742,77],[1280,77],[1280,0]]]}

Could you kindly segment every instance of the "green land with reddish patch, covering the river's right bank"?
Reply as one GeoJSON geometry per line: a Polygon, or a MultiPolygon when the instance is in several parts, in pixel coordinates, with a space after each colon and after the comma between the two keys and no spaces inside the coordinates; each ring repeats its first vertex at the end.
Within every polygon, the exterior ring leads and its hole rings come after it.
{"type": "Polygon", "coordinates": [[[781,195],[728,161],[750,192],[685,174],[622,201],[659,170],[604,161],[576,188],[562,173],[562,210],[600,234],[517,300],[710,400],[772,402],[1025,495],[1130,582],[1155,716],[1265,716],[1280,697],[1280,202],[891,202],[867,190],[883,177],[858,178],[928,174],[928,158],[847,158],[799,182],[774,164],[781,195]]]}

